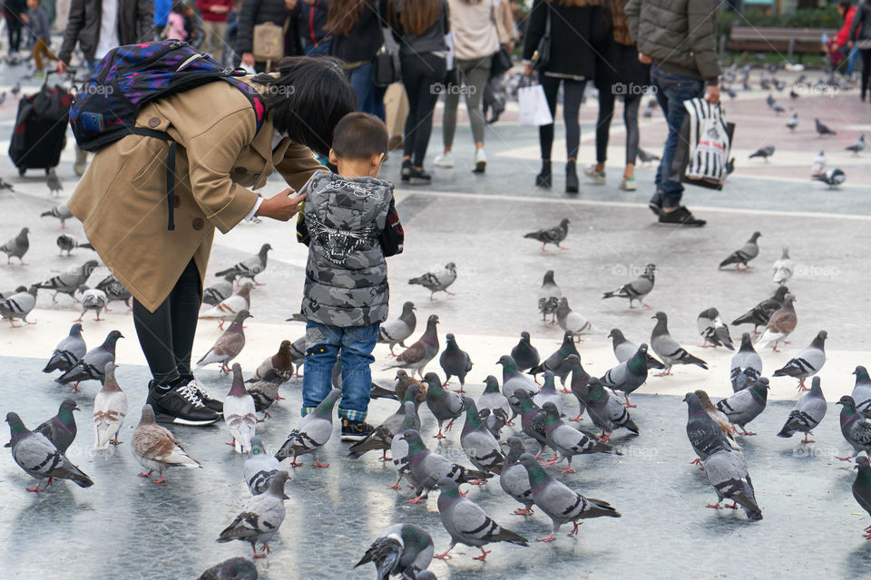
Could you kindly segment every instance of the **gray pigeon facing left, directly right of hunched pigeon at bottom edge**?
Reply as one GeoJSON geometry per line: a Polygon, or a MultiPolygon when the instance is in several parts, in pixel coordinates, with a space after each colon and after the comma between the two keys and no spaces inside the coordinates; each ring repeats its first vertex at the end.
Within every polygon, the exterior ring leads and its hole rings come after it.
{"type": "Polygon", "coordinates": [[[481,548],[481,556],[475,556],[475,560],[482,562],[490,554],[484,550],[487,544],[509,542],[517,546],[529,546],[524,536],[499,526],[474,501],[463,498],[454,479],[441,478],[437,485],[441,492],[438,495],[438,515],[441,517],[442,526],[451,536],[451,544],[444,553],[436,555],[436,558],[451,557],[448,553],[457,544],[481,548]]]}

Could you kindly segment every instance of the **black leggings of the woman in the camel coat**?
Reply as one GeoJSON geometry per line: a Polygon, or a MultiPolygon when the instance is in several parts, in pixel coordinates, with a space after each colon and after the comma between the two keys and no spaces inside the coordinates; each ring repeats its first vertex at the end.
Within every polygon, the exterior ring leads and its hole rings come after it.
{"type": "Polygon", "coordinates": [[[191,349],[201,299],[200,272],[192,258],[170,295],[153,313],[133,299],[133,324],[157,384],[193,377],[191,349]]]}

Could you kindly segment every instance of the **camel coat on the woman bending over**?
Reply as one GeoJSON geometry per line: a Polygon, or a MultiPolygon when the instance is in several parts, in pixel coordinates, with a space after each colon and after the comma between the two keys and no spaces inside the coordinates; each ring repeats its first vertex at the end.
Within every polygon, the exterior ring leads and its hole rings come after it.
{"type": "Polygon", "coordinates": [[[178,143],[175,229],[167,229],[169,144],[151,137],[130,135],[100,150],[68,205],[105,265],[150,312],[191,257],[204,286],[215,228],[227,233],[245,218],[258,198],[250,189],[263,187],[273,170],[298,191],[325,169],[287,137],[272,150],[271,116],[255,133],[250,101],[227,82],[152,102],[136,125],[166,131],[178,143]]]}

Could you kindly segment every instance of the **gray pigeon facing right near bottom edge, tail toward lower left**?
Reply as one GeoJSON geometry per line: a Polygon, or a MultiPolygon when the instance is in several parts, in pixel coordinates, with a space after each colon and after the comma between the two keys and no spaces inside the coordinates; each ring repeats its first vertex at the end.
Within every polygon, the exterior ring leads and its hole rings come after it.
{"type": "Polygon", "coordinates": [[[268,553],[271,553],[269,540],[278,533],[279,526],[284,521],[286,514],[284,484],[288,478],[287,471],[276,473],[269,484],[269,489],[250,498],[245,507],[242,508],[240,515],[220,533],[217,541],[250,542],[255,558],[264,558],[268,553]],[[263,552],[258,553],[258,544],[263,545],[263,552]]]}

